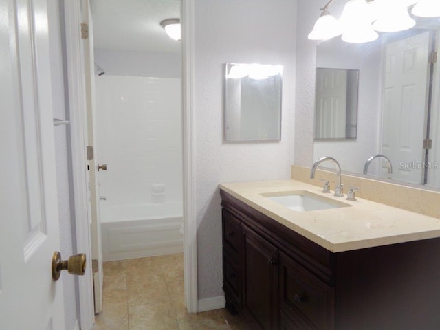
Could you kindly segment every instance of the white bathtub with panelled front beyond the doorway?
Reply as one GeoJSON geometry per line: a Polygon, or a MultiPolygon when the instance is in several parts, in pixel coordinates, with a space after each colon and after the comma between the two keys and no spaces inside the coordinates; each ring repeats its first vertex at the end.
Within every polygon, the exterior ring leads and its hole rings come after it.
{"type": "Polygon", "coordinates": [[[183,252],[181,202],[110,207],[102,204],[103,261],[183,252]]]}

